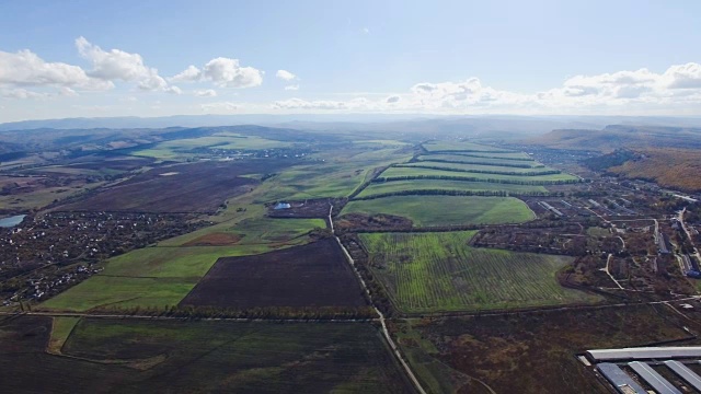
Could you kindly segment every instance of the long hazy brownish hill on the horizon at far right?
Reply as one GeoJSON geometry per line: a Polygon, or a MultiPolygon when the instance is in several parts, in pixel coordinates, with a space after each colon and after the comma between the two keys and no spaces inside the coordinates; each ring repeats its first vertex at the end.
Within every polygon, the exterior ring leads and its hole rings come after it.
{"type": "Polygon", "coordinates": [[[611,125],[601,130],[560,129],[527,143],[558,149],[611,152],[620,148],[701,149],[701,128],[611,125]]]}

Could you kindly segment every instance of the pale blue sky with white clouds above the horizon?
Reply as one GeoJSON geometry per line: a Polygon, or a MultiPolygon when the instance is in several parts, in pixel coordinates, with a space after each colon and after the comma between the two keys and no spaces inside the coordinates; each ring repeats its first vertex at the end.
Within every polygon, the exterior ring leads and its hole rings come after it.
{"type": "Polygon", "coordinates": [[[0,0],[0,123],[701,116],[701,1],[0,0]]]}

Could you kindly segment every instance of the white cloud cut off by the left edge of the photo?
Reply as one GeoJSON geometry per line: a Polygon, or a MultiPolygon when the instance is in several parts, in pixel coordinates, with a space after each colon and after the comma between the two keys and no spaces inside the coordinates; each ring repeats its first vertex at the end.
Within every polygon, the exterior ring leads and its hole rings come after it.
{"type": "Polygon", "coordinates": [[[110,81],[90,77],[78,66],[46,62],[28,49],[0,51],[0,85],[67,86],[83,90],[114,88],[110,81]]]}

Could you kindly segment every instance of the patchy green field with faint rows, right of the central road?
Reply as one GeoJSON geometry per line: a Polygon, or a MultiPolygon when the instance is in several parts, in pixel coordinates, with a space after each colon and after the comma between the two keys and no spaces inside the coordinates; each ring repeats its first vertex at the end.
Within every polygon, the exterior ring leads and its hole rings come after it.
{"type": "Polygon", "coordinates": [[[370,266],[404,312],[441,312],[589,302],[555,273],[572,258],[474,248],[474,232],[360,234],[370,266]]]}

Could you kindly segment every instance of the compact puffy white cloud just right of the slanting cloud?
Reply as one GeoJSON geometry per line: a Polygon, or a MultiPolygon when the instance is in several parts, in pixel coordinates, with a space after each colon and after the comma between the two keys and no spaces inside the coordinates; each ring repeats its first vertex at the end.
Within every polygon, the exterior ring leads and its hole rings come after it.
{"type": "Polygon", "coordinates": [[[200,69],[189,66],[171,81],[210,81],[219,88],[254,88],[263,83],[263,71],[253,67],[241,67],[239,59],[218,57],[200,69]]]}

